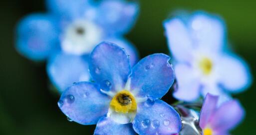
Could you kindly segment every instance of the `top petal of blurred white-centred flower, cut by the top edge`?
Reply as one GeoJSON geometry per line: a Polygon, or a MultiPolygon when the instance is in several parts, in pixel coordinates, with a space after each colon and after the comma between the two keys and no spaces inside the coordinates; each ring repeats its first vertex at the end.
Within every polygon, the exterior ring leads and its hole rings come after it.
{"type": "Polygon", "coordinates": [[[72,19],[84,15],[92,0],[46,0],[48,9],[62,18],[72,19]]]}

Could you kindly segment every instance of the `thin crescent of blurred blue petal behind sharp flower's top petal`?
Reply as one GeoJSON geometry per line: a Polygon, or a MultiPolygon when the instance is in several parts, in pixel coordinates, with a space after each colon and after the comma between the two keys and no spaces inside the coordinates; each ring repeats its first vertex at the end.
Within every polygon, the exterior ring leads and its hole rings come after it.
{"type": "Polygon", "coordinates": [[[127,41],[121,37],[107,38],[104,41],[115,43],[118,46],[124,48],[126,53],[129,55],[131,67],[133,67],[138,62],[138,60],[139,60],[138,51],[135,48],[135,46],[132,43],[130,43],[129,41],[127,41]]]}

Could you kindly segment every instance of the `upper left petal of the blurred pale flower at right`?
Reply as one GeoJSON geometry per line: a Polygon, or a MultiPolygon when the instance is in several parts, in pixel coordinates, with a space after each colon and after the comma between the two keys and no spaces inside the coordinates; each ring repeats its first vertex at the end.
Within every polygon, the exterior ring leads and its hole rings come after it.
{"type": "Polygon", "coordinates": [[[170,52],[178,61],[189,62],[192,58],[192,40],[185,24],[178,18],[164,23],[170,52]]]}

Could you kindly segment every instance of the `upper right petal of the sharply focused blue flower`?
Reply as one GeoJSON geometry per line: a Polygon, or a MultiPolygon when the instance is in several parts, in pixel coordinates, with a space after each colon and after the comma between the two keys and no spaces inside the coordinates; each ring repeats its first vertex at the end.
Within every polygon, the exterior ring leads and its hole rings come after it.
{"type": "Polygon", "coordinates": [[[131,90],[139,97],[158,99],[164,96],[174,82],[174,71],[165,54],[153,54],[139,61],[133,68],[131,90]]]}

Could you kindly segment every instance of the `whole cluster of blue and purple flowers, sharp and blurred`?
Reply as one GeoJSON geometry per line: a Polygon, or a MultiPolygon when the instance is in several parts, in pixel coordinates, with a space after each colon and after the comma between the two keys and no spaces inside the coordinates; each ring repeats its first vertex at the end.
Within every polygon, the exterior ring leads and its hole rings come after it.
{"type": "Polygon", "coordinates": [[[58,107],[70,121],[96,124],[94,135],[228,135],[243,120],[245,111],[231,94],[250,86],[250,71],[228,49],[220,17],[195,12],[166,20],[174,59],[160,53],[138,61],[123,37],[138,3],[47,0],[47,7],[19,22],[16,49],[46,61],[61,94],[58,107]],[[161,100],[173,83],[173,96],[183,101],[174,107],[161,100]]]}

